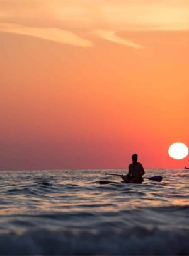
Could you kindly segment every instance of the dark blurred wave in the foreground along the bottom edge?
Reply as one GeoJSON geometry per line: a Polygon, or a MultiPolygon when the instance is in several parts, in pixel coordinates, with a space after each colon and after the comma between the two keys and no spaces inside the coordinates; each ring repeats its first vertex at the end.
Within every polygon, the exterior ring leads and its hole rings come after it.
{"type": "Polygon", "coordinates": [[[188,255],[188,231],[28,231],[0,235],[1,255],[188,255]]]}

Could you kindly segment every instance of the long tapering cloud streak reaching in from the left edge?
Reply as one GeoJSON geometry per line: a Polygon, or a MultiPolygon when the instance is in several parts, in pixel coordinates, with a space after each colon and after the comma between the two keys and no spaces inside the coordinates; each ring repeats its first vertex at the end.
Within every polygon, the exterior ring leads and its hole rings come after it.
{"type": "Polygon", "coordinates": [[[83,39],[71,31],[62,30],[60,28],[36,28],[11,23],[0,23],[0,32],[28,35],[50,40],[52,42],[58,42],[60,44],[70,44],[72,46],[92,46],[91,41],[83,39]]]}

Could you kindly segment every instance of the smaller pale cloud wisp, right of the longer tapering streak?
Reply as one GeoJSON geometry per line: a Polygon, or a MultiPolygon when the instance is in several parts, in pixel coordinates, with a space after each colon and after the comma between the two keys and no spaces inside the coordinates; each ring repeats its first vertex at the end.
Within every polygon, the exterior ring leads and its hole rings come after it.
{"type": "Polygon", "coordinates": [[[115,42],[117,44],[123,44],[124,46],[133,47],[135,49],[144,48],[144,46],[140,44],[136,44],[135,42],[132,42],[130,40],[125,40],[121,37],[118,37],[118,35],[116,35],[116,32],[113,30],[95,30],[93,33],[102,39],[115,42]]]}

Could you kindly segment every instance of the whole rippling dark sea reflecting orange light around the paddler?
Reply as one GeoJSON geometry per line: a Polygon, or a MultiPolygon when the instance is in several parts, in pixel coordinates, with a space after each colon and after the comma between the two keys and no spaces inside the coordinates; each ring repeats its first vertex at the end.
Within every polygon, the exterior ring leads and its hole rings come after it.
{"type": "Polygon", "coordinates": [[[106,171],[1,171],[1,255],[189,255],[189,171],[106,171]]]}

